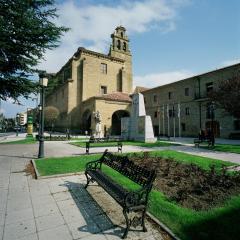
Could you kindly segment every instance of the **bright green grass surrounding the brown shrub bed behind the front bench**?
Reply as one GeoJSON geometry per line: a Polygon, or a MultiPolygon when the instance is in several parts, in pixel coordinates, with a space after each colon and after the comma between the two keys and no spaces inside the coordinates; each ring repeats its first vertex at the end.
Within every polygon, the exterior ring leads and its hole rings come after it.
{"type": "MultiPolygon", "coordinates": [[[[189,164],[194,162],[207,170],[212,164],[215,164],[217,168],[220,168],[222,165],[233,165],[220,160],[170,150],[151,152],[150,154],[170,157],[176,161],[189,164]]],[[[36,160],[36,165],[41,175],[79,172],[84,171],[85,164],[88,161],[99,159],[100,156],[84,155],[79,157],[40,159],[36,160]]],[[[129,189],[138,188],[131,180],[108,167],[104,167],[103,171],[129,189]]],[[[240,219],[240,196],[232,197],[222,207],[197,212],[169,201],[161,192],[153,189],[149,199],[149,212],[165,223],[183,240],[235,240],[240,235],[240,229],[237,224],[240,219]]]]}

